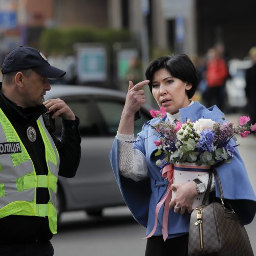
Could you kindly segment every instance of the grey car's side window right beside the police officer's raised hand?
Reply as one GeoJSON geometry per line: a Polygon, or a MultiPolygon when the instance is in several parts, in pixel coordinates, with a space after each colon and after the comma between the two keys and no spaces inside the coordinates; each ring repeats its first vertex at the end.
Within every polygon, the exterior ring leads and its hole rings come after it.
{"type": "MultiPolygon", "coordinates": [[[[71,110],[80,119],[79,131],[81,136],[102,136],[102,125],[100,124],[99,113],[93,107],[92,102],[89,100],[65,100],[71,110]]],[[[62,121],[61,118],[55,119],[57,136],[61,135],[62,121]]]]}

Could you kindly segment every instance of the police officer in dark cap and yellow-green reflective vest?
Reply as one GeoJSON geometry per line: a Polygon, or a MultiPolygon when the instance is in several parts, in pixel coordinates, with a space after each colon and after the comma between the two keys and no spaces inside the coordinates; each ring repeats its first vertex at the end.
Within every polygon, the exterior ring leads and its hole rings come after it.
{"type": "Polygon", "coordinates": [[[74,177],[80,161],[79,119],[61,99],[43,102],[52,67],[31,47],[11,50],[0,91],[0,255],[50,256],[56,233],[57,177],[74,177]],[[62,118],[60,140],[42,116],[62,118]]]}

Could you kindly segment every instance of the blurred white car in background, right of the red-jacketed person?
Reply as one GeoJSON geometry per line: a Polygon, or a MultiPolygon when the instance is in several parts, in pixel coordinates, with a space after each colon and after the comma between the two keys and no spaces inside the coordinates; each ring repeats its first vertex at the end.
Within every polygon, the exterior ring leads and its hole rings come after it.
{"type": "Polygon", "coordinates": [[[252,66],[250,59],[232,59],[228,63],[229,79],[226,81],[228,106],[231,110],[244,109],[247,100],[245,95],[245,71],[252,66]]]}

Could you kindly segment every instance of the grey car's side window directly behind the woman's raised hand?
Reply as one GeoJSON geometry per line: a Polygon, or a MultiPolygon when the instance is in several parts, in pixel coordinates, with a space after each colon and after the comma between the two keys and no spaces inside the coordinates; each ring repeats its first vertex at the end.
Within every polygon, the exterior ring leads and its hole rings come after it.
{"type": "MultiPolygon", "coordinates": [[[[102,118],[108,127],[105,135],[115,136],[118,130],[121,114],[123,111],[124,102],[115,100],[97,100],[98,108],[101,112],[102,118]]],[[[150,120],[150,114],[141,111],[141,118],[135,121],[134,134],[137,135],[141,131],[142,125],[150,120]]]]}

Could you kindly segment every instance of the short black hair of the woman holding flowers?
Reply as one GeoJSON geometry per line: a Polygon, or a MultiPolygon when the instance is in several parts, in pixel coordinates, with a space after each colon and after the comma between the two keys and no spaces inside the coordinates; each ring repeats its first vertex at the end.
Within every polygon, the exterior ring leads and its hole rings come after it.
{"type": "Polygon", "coordinates": [[[155,72],[160,69],[166,69],[173,77],[191,84],[192,87],[190,90],[186,91],[186,94],[189,99],[193,97],[198,86],[198,76],[193,62],[186,54],[173,54],[159,57],[150,63],[146,69],[145,75],[146,79],[150,80],[148,86],[150,86],[151,93],[153,76],[155,72]]]}

